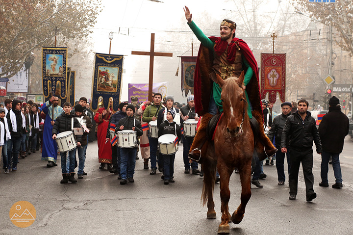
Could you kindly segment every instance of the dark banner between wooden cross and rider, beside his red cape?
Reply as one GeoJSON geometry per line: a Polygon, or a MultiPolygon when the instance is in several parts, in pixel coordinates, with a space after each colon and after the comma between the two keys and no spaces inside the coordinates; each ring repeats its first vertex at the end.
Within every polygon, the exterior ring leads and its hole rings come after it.
{"type": "Polygon", "coordinates": [[[194,76],[197,56],[181,57],[181,92],[185,91],[185,97],[191,91],[194,94],[194,76]]]}

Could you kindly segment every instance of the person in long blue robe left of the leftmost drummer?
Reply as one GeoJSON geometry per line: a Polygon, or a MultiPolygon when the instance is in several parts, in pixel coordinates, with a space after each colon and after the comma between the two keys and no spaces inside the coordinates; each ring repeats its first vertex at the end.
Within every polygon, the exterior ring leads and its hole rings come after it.
{"type": "MultiPolygon", "coordinates": [[[[52,126],[51,126],[51,116],[52,116],[52,105],[47,101],[42,106],[42,111],[46,114],[46,119],[44,122],[43,130],[43,150],[42,150],[42,160],[43,161],[53,161],[56,163],[57,157],[57,144],[56,141],[52,139],[52,126]]],[[[64,109],[59,105],[54,107],[54,121],[61,113],[64,112],[64,109]]]]}

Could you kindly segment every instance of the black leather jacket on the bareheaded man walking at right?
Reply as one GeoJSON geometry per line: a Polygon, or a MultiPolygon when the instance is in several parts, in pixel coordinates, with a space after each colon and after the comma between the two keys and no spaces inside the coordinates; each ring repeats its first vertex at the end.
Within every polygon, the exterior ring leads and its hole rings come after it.
{"type": "Polygon", "coordinates": [[[298,111],[287,117],[284,124],[281,138],[281,148],[287,148],[287,139],[289,138],[289,147],[297,150],[310,149],[313,141],[316,145],[316,152],[322,153],[319,132],[316,128],[315,119],[309,111],[306,111],[306,117],[303,121],[298,111]]]}

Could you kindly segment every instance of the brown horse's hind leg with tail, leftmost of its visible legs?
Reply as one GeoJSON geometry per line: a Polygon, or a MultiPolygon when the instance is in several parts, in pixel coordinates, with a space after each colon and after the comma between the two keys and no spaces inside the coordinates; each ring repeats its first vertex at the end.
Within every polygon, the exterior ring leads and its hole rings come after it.
{"type": "Polygon", "coordinates": [[[207,219],[216,219],[216,211],[214,210],[213,190],[216,179],[216,162],[211,161],[208,156],[202,164],[203,169],[203,188],[202,201],[203,205],[207,201],[207,219]]]}

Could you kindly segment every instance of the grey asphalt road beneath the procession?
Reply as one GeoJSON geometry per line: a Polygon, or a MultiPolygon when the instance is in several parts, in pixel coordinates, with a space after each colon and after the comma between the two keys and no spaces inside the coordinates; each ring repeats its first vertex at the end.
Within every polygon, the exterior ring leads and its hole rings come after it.
{"type": "MultiPolygon", "coordinates": [[[[264,166],[267,174],[262,189],[252,188],[245,217],[230,224],[232,235],[351,235],[353,232],[353,141],[347,139],[341,157],[343,189],[319,187],[320,156],[314,154],[314,190],[317,198],[305,201],[303,172],[300,172],[297,200],[288,200],[289,187],[277,185],[276,166],[264,166]]],[[[40,153],[20,159],[17,172],[0,174],[1,235],[215,235],[221,221],[219,184],[214,200],[217,219],[206,219],[201,204],[202,178],[184,174],[182,145],[176,155],[176,183],[164,185],[161,173],[149,175],[141,158],[136,162],[135,183],[120,185],[117,176],[98,169],[97,142],[89,143],[85,171],[76,184],[60,184],[60,160],[47,168],[40,153]],[[28,201],[36,209],[36,220],[18,228],[9,218],[11,206],[28,201]]],[[[334,183],[329,168],[329,184],[334,183]]],[[[286,172],[286,176],[288,176],[286,172]]],[[[232,213],[240,203],[239,175],[230,180],[232,213]]]]}

